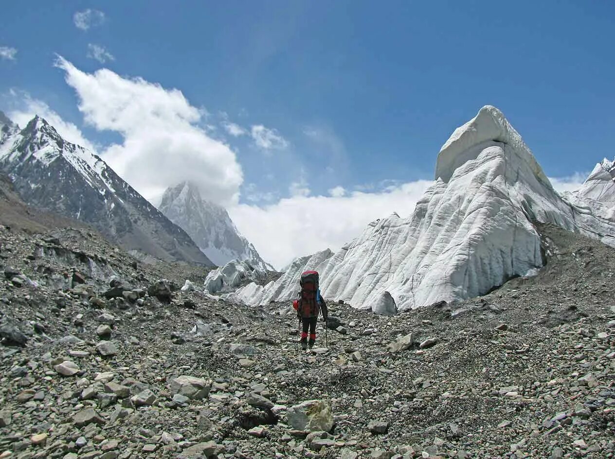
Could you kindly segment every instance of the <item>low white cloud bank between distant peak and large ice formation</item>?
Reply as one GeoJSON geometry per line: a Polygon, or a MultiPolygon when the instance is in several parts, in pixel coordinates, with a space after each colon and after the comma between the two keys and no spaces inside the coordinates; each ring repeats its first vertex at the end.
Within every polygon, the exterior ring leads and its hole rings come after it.
{"type": "Polygon", "coordinates": [[[418,180],[392,190],[355,191],[343,197],[294,196],[264,207],[240,204],[229,208],[229,214],[260,255],[281,268],[301,255],[327,247],[340,249],[376,218],[392,212],[410,215],[432,183],[418,180]]]}

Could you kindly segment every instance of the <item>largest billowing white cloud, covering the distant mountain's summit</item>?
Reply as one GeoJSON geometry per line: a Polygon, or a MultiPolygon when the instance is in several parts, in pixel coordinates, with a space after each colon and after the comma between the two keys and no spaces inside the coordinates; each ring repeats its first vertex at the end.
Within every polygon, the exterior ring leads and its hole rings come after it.
{"type": "Polygon", "coordinates": [[[79,97],[85,122],[123,137],[101,156],[150,202],[181,180],[199,185],[204,198],[237,203],[243,174],[228,145],[199,126],[204,111],[191,106],[181,91],[108,69],[82,72],[62,57],[56,66],[79,97]]]}

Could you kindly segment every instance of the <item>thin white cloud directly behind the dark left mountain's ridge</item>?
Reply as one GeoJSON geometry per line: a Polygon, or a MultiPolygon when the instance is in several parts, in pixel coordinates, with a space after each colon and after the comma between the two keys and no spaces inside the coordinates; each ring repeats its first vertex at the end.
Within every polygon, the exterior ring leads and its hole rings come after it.
{"type": "Polygon", "coordinates": [[[86,149],[96,152],[96,147],[92,142],[85,138],[83,133],[73,123],[66,122],[65,120],[50,109],[50,107],[43,101],[33,99],[28,93],[10,91],[11,98],[14,103],[17,104],[15,109],[9,110],[9,118],[24,128],[34,115],[44,118],[47,123],[54,126],[60,136],[64,137],[67,141],[81,145],[86,149]]]}

